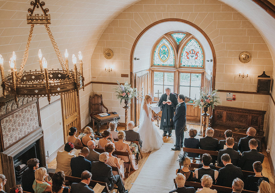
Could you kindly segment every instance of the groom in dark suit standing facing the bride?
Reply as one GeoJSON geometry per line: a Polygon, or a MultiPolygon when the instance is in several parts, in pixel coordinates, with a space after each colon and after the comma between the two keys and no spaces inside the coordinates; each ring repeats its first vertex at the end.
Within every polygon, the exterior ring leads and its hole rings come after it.
{"type": "Polygon", "coordinates": [[[183,147],[183,138],[186,124],[186,104],[184,102],[185,97],[183,94],[179,94],[178,102],[179,105],[176,108],[175,116],[173,117],[175,133],[176,133],[176,145],[174,148],[171,148],[174,151],[180,150],[183,147]]]}

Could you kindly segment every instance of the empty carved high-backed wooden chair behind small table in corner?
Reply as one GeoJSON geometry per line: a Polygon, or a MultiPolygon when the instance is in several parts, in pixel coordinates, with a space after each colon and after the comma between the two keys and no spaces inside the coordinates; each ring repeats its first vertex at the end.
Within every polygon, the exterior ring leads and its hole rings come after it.
{"type": "Polygon", "coordinates": [[[93,122],[93,129],[95,129],[94,115],[103,113],[103,108],[105,108],[108,113],[108,108],[103,104],[102,94],[100,96],[98,94],[94,94],[92,97],[90,96],[90,116],[93,122]]]}

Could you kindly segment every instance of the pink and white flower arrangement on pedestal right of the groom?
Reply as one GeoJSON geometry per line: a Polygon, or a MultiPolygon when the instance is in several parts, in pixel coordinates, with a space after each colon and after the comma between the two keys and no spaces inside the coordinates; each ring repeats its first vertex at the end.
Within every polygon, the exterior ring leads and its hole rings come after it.
{"type": "MultiPolygon", "coordinates": [[[[204,90],[206,90],[206,88],[204,88],[204,90]]],[[[200,108],[203,108],[211,106],[212,108],[214,108],[214,105],[218,105],[220,103],[221,102],[218,95],[218,90],[211,90],[206,93],[205,91],[202,91],[200,89],[200,98],[195,100],[194,107],[199,106],[200,108]]]]}

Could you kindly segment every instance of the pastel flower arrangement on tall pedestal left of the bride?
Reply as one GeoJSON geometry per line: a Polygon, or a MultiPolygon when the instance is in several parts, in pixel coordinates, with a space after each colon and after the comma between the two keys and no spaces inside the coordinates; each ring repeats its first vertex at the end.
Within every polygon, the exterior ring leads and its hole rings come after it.
{"type": "Polygon", "coordinates": [[[120,99],[120,104],[122,100],[128,100],[131,103],[131,99],[133,97],[137,97],[139,92],[136,91],[136,88],[132,88],[131,85],[128,84],[128,82],[125,82],[124,85],[121,85],[117,81],[118,86],[114,88],[116,97],[120,99]]]}

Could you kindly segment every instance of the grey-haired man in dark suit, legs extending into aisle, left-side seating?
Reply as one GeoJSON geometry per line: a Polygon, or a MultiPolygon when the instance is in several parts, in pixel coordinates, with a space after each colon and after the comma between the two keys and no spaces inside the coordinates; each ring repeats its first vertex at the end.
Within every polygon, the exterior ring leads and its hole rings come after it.
{"type": "MultiPolygon", "coordinates": [[[[123,183],[121,181],[121,177],[119,175],[113,175],[112,167],[107,165],[109,156],[107,152],[101,153],[99,155],[99,161],[92,163],[92,176],[93,180],[106,182],[109,186],[109,189],[112,190],[114,188],[114,184],[118,187],[119,193],[128,193],[128,190],[125,190],[123,183]]],[[[106,188],[104,189],[107,192],[106,188]]]]}

